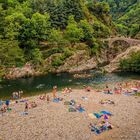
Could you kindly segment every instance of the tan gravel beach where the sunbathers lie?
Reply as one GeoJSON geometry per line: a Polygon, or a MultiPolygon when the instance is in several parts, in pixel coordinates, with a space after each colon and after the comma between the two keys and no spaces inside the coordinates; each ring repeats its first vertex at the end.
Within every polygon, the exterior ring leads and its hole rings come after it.
{"type": "Polygon", "coordinates": [[[72,93],[62,95],[59,103],[42,101],[39,96],[28,97],[36,101],[37,107],[29,109],[28,115],[21,115],[25,103],[12,104],[11,112],[0,116],[0,140],[139,140],[140,139],[140,97],[125,95],[108,95],[95,91],[86,92],[74,89],[72,93]],[[83,100],[82,96],[87,97],[83,100]],[[68,112],[64,101],[74,99],[86,110],[68,112]],[[115,105],[101,105],[102,99],[110,99],[115,105]],[[88,114],[110,111],[109,119],[114,126],[112,130],[95,135],[88,127],[97,119],[91,119],[88,114]]]}

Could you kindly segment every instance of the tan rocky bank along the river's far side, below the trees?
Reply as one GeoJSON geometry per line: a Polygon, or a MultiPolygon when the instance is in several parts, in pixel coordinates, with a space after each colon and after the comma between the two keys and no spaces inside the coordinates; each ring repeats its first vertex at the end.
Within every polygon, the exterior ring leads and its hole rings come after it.
{"type": "MultiPolygon", "coordinates": [[[[52,56],[47,58],[44,64],[38,68],[30,63],[25,64],[23,67],[9,68],[4,75],[6,79],[16,79],[21,77],[38,76],[47,74],[48,72],[61,73],[61,72],[81,72],[90,69],[101,70],[102,72],[116,72],[119,70],[119,62],[123,58],[129,57],[132,52],[140,50],[140,45],[120,48],[114,52],[114,48],[103,49],[99,56],[90,56],[86,50],[77,50],[70,57],[66,58],[64,63],[60,66],[52,66],[52,56]]],[[[61,54],[55,54],[55,56],[61,54]]]]}

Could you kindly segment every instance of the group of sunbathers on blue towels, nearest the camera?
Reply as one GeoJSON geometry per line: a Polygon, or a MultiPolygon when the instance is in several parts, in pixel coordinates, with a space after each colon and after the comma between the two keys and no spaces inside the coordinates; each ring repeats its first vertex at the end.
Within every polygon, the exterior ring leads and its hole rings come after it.
{"type": "Polygon", "coordinates": [[[95,134],[100,134],[106,130],[112,129],[113,126],[109,122],[102,121],[99,124],[91,124],[90,123],[89,128],[91,129],[91,131],[95,132],[95,134]]]}

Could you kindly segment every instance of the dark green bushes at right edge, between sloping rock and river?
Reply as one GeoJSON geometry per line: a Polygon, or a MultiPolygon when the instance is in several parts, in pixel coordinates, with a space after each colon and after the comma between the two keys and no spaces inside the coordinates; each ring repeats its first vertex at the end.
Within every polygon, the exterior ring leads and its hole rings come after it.
{"type": "Polygon", "coordinates": [[[120,68],[124,71],[140,72],[140,51],[132,53],[128,59],[121,60],[120,68]]]}

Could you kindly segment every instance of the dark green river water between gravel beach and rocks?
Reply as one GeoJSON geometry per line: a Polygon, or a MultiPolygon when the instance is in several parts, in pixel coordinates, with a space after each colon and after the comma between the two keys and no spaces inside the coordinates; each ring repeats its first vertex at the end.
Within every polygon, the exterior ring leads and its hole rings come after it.
{"type": "MultiPolygon", "coordinates": [[[[115,83],[128,80],[140,80],[140,74],[134,73],[111,73],[99,74],[94,70],[87,71],[89,78],[74,78],[74,74],[48,74],[46,76],[21,78],[16,80],[5,80],[0,83],[0,99],[10,98],[12,92],[23,90],[24,96],[32,96],[39,93],[49,92],[54,85],[59,89],[63,87],[79,88],[83,85],[98,87],[106,83],[115,83]]],[[[82,73],[81,73],[82,74],[82,73]]]]}

